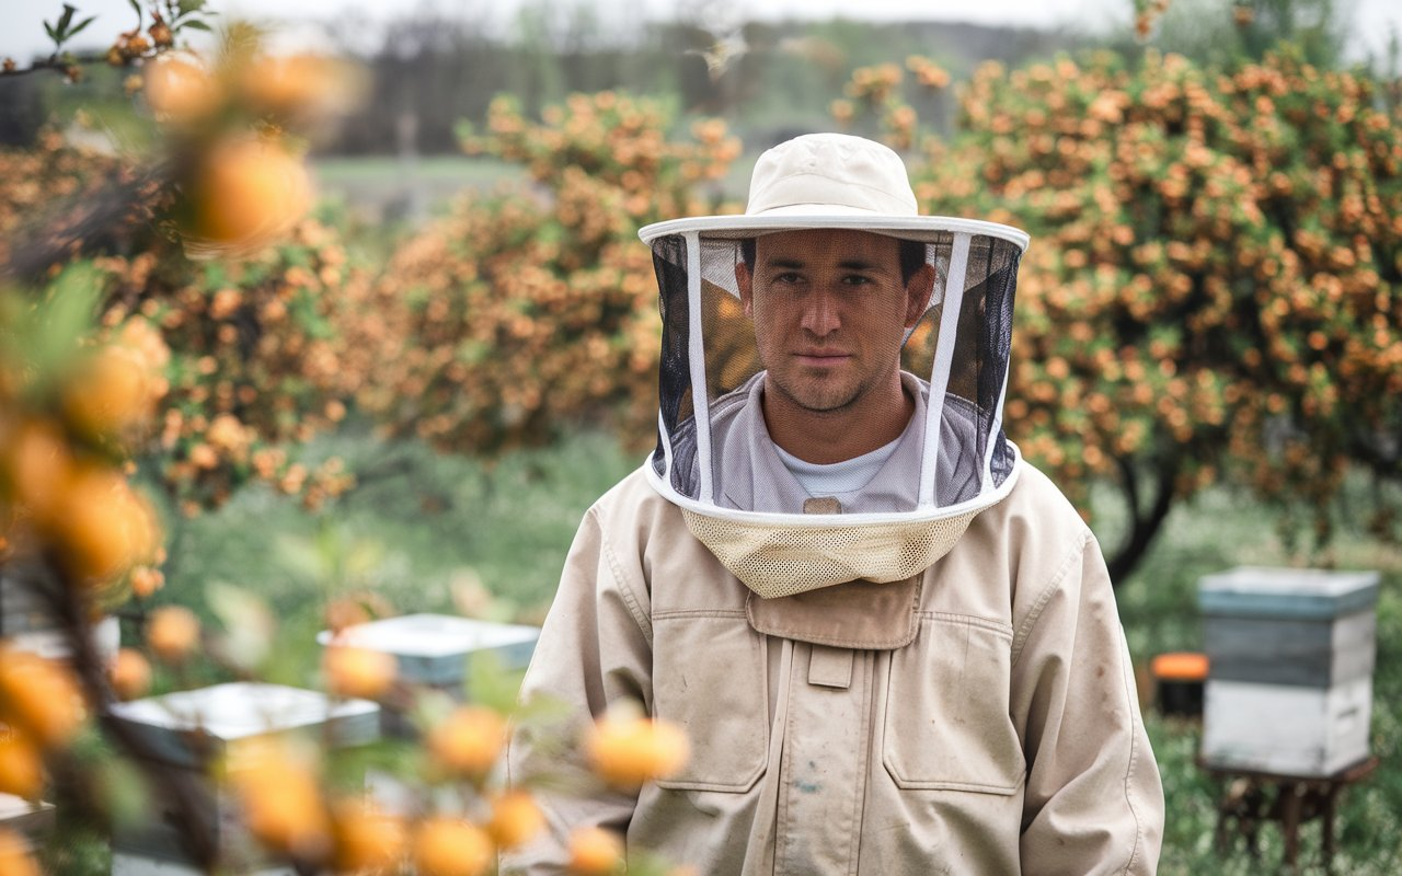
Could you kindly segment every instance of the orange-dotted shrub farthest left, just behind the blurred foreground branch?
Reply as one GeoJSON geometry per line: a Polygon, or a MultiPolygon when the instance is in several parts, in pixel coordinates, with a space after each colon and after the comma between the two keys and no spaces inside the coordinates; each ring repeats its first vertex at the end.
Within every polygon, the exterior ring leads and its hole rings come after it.
{"type": "Polygon", "coordinates": [[[307,471],[285,450],[339,422],[355,381],[335,329],[338,293],[366,280],[334,230],[303,220],[282,245],[238,262],[191,262],[153,241],[91,264],[102,322],[140,317],[171,348],[147,457],[182,510],[219,505],[250,478],[310,507],[349,486],[335,460],[307,471]]]}

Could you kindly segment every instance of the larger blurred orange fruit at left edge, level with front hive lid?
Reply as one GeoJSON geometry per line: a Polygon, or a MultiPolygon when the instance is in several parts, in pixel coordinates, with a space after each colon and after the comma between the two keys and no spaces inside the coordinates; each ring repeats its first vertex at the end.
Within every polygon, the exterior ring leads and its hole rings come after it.
{"type": "Polygon", "coordinates": [[[87,709],[73,673],[55,660],[0,650],[0,715],[43,747],[62,746],[87,709]]]}

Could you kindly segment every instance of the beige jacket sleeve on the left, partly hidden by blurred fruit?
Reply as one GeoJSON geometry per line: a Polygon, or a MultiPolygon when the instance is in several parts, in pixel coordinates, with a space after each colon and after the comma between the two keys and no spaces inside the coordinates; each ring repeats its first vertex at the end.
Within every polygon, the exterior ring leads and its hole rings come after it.
{"type": "Polygon", "coordinates": [[[571,831],[597,826],[624,834],[637,798],[608,789],[585,762],[579,740],[618,699],[652,712],[651,607],[634,566],[625,570],[592,509],[565,559],[559,590],[522,683],[520,701],[548,723],[522,722],[508,746],[508,782],[529,788],[544,830],[503,852],[502,873],[562,873],[571,831]]]}

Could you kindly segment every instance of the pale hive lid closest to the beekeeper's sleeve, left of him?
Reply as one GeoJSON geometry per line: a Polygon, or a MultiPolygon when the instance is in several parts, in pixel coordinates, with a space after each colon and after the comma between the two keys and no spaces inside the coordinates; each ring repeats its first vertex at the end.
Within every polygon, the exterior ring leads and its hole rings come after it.
{"type": "MultiPolygon", "coordinates": [[[[538,627],[496,624],[451,614],[405,614],[342,629],[338,645],[394,655],[400,677],[419,684],[458,684],[467,657],[492,652],[503,669],[524,669],[536,650],[538,627]]],[[[329,631],[317,642],[331,645],[329,631]]]]}

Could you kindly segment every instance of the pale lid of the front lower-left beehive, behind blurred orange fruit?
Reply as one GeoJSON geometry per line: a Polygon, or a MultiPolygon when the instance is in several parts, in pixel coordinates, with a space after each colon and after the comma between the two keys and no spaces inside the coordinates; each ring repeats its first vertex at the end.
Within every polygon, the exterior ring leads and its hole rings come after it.
{"type": "Polygon", "coordinates": [[[369,699],[331,699],[320,691],[233,681],[109,706],[137,729],[161,761],[199,767],[233,743],[282,733],[315,732],[336,746],[380,737],[380,706],[369,699]]]}

